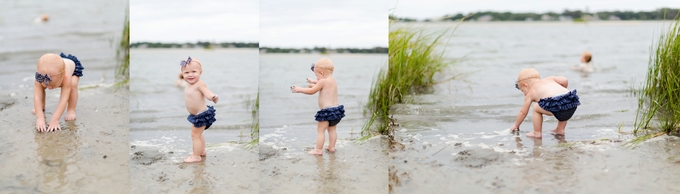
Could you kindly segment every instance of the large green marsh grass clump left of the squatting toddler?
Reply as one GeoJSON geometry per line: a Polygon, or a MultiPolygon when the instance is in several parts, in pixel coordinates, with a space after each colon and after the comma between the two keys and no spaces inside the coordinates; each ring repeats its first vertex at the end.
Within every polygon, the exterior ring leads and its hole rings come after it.
{"type": "Polygon", "coordinates": [[[370,118],[361,135],[388,134],[388,128],[396,125],[389,117],[392,105],[403,103],[409,94],[423,93],[437,83],[456,78],[435,80],[435,74],[453,64],[440,48],[448,42],[445,37],[448,32],[426,34],[424,29],[408,27],[389,32],[388,65],[373,80],[364,109],[364,114],[370,114],[370,118]]]}

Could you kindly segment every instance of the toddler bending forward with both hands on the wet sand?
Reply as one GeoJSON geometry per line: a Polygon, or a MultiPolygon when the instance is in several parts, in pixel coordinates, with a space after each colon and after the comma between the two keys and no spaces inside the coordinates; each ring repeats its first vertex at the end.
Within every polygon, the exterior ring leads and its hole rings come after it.
{"type": "Polygon", "coordinates": [[[35,114],[35,128],[40,132],[61,130],[59,118],[68,104],[68,111],[64,120],[76,119],[76,103],[78,103],[78,81],[83,76],[83,65],[73,55],[48,53],[38,59],[38,71],[35,72],[33,83],[33,114],[35,114]],[[45,89],[61,88],[59,103],[45,126],[45,89]]]}

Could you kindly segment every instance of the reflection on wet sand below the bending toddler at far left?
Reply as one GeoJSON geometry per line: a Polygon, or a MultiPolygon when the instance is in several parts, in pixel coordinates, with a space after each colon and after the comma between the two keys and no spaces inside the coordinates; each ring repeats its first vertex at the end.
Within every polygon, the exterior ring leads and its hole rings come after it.
{"type": "Polygon", "coordinates": [[[36,153],[42,161],[38,167],[41,192],[60,193],[68,188],[77,188],[69,184],[75,184],[72,181],[78,180],[66,180],[68,174],[79,170],[75,166],[81,159],[77,131],[73,122],[67,122],[67,127],[62,127],[62,131],[35,133],[34,140],[38,144],[36,153]]]}

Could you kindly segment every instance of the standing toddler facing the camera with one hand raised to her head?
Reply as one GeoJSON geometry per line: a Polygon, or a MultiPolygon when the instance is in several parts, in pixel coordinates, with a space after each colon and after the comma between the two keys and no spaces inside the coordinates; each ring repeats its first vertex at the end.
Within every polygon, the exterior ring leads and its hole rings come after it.
{"type": "Polygon", "coordinates": [[[208,99],[217,104],[219,98],[208,90],[208,87],[201,81],[201,74],[203,74],[203,66],[201,62],[189,57],[186,61],[180,63],[182,66],[182,76],[188,85],[184,88],[184,102],[189,111],[187,120],[194,126],[191,129],[191,142],[193,144],[193,152],[184,159],[184,162],[200,162],[201,157],[205,157],[205,138],[203,131],[210,128],[216,121],[215,108],[208,106],[204,99],[208,99]]]}

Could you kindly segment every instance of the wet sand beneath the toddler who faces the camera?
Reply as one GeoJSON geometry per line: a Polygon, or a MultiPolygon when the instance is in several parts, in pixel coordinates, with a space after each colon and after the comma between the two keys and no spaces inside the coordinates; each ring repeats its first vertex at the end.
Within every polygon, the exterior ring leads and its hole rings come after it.
{"type": "Polygon", "coordinates": [[[130,192],[258,193],[257,148],[247,149],[245,144],[235,143],[208,144],[202,162],[184,163],[182,159],[191,152],[191,141],[188,143],[168,149],[172,146],[132,142],[130,192]]]}

